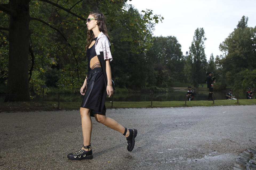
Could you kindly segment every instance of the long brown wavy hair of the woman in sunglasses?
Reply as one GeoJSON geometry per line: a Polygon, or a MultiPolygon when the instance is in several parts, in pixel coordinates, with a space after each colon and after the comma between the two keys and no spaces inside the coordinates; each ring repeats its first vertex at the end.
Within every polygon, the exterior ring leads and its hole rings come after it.
{"type": "MultiPolygon", "coordinates": [[[[107,38],[109,39],[109,35],[107,35],[107,26],[106,26],[106,17],[102,12],[99,11],[91,11],[89,15],[94,16],[94,18],[97,20],[97,25],[99,27],[99,31],[103,32],[107,38]]],[[[86,50],[89,48],[92,40],[94,39],[94,34],[92,30],[87,30],[87,45],[86,50]]]]}

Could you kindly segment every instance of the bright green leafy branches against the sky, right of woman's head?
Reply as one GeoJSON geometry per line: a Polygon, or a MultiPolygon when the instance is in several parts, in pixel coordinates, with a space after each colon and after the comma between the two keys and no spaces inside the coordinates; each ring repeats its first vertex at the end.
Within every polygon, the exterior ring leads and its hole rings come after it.
{"type": "MultiPolygon", "coordinates": [[[[161,15],[153,15],[152,10],[143,10],[140,14],[132,5],[124,5],[121,11],[111,20],[114,27],[119,29],[120,41],[128,41],[131,43],[131,51],[133,53],[146,52],[152,45],[152,31],[154,23],[162,22],[161,15]],[[115,22],[114,22],[115,21],[115,22]],[[154,21],[154,23],[153,23],[154,21]]],[[[111,34],[112,35],[112,34],[111,34]]],[[[114,35],[112,35],[114,37],[114,35]]]]}

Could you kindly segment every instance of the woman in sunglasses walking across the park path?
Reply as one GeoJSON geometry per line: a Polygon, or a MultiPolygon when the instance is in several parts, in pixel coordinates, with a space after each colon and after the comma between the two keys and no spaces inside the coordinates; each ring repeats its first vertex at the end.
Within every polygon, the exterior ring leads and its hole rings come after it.
{"type": "Polygon", "coordinates": [[[106,18],[102,12],[90,12],[87,18],[87,46],[88,73],[80,93],[84,95],[80,115],[82,119],[83,146],[74,153],[67,155],[72,160],[92,159],[91,150],[91,116],[97,122],[119,131],[127,140],[127,150],[132,151],[137,136],[136,129],[127,129],[115,120],[106,117],[106,95],[113,95],[111,80],[109,36],[107,35],[106,18]]]}

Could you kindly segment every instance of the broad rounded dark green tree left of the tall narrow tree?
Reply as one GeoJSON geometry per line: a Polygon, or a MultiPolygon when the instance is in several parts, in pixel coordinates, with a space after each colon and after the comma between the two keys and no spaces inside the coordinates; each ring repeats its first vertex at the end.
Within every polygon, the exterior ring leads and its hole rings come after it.
{"type": "Polygon", "coordinates": [[[176,37],[154,37],[153,46],[146,56],[157,71],[156,86],[168,88],[172,81],[180,81],[183,77],[185,60],[176,37]]]}

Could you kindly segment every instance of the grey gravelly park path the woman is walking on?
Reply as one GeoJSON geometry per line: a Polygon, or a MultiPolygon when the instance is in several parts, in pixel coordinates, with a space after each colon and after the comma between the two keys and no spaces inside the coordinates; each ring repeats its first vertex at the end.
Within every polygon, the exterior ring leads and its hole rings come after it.
{"type": "Polygon", "coordinates": [[[95,121],[93,159],[72,161],[82,146],[79,111],[0,113],[0,169],[233,169],[256,146],[256,105],[111,109],[136,128],[135,147],[95,121]]]}

